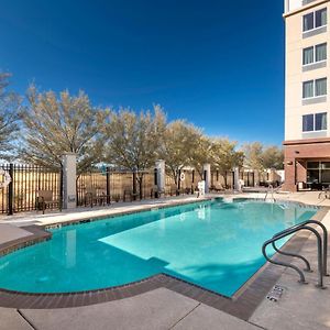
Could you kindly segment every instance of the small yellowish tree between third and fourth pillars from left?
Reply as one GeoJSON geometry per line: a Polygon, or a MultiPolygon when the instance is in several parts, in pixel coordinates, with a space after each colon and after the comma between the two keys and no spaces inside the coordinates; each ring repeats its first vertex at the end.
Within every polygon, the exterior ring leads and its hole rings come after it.
{"type": "Polygon", "coordinates": [[[243,152],[237,151],[238,143],[229,139],[215,139],[212,141],[211,165],[224,178],[227,186],[227,172],[232,170],[233,167],[242,167],[244,162],[243,152]]]}

